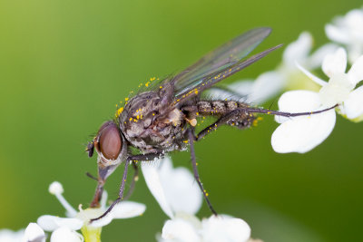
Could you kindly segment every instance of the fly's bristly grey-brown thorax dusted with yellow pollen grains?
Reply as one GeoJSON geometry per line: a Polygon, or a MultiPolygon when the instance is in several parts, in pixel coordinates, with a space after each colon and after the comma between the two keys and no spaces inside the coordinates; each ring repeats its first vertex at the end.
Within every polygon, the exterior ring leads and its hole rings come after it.
{"type": "Polygon", "coordinates": [[[125,139],[143,153],[178,149],[185,125],[179,109],[168,110],[160,92],[142,92],[128,102],[119,117],[125,139]]]}

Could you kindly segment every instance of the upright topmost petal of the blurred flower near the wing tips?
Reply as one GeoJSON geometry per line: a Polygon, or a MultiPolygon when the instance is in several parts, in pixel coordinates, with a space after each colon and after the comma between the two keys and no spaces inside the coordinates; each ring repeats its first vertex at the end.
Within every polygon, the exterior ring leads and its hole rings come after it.
{"type": "Polygon", "coordinates": [[[287,65],[293,65],[296,61],[305,62],[312,45],[312,36],[309,32],[303,32],[299,35],[298,40],[289,44],[283,53],[283,62],[287,65]]]}

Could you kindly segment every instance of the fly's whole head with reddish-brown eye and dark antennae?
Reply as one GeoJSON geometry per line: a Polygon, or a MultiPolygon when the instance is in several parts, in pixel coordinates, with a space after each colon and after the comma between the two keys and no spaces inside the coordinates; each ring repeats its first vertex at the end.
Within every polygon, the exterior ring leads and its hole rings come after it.
{"type": "Polygon", "coordinates": [[[101,169],[117,166],[124,160],[127,144],[114,121],[105,121],[96,137],[88,143],[86,151],[89,157],[93,156],[94,150],[98,154],[97,163],[101,169]]]}

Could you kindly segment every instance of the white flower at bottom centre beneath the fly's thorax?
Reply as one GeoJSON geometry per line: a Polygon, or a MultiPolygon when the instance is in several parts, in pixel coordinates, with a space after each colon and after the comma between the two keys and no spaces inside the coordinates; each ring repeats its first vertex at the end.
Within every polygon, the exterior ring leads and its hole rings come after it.
{"type": "Polygon", "coordinates": [[[249,225],[240,218],[221,215],[200,220],[195,213],[201,208],[201,190],[191,172],[172,168],[172,160],[164,158],[161,166],[142,166],[142,173],[152,195],[169,216],[162,227],[160,242],[247,241],[249,225]]]}

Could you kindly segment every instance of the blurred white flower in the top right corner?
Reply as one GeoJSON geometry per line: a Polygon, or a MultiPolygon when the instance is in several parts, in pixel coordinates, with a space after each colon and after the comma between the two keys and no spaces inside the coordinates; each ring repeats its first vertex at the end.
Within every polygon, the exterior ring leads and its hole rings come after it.
{"type": "Polygon", "coordinates": [[[363,9],[336,17],[325,26],[325,32],[330,40],[347,46],[349,62],[354,63],[363,54],[363,9]]]}

